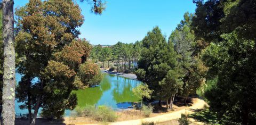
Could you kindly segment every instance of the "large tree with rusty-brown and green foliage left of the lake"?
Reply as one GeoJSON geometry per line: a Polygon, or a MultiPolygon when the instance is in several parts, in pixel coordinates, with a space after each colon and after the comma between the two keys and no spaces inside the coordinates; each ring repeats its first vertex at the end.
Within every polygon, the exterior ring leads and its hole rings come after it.
{"type": "Polygon", "coordinates": [[[86,62],[91,45],[78,39],[77,28],[84,21],[81,9],[71,0],[31,0],[15,12],[16,51],[22,59],[18,72],[23,74],[17,101],[22,109],[42,108],[43,116],[60,118],[77,105],[71,91],[96,84],[99,74],[97,65],[86,62]]]}

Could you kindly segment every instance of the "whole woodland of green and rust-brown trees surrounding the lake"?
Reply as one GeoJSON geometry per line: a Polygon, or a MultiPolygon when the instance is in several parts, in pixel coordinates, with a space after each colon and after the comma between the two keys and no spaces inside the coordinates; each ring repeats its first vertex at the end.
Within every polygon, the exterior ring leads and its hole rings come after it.
{"type": "MultiPolygon", "coordinates": [[[[44,118],[61,118],[76,109],[73,91],[100,84],[102,68],[134,73],[143,82],[132,90],[141,106],[165,102],[169,111],[175,98],[187,105],[196,95],[218,124],[256,123],[254,0],[193,0],[195,13],[186,12],[169,36],[152,26],[141,40],[107,47],[78,37],[84,16],[74,1],[30,0],[15,13],[12,2],[2,2],[0,21],[3,124],[14,124],[15,100],[30,124],[39,109],[44,118]],[[15,72],[22,74],[18,84],[15,72]]],[[[105,10],[102,1],[84,2],[95,14],[105,10]]]]}

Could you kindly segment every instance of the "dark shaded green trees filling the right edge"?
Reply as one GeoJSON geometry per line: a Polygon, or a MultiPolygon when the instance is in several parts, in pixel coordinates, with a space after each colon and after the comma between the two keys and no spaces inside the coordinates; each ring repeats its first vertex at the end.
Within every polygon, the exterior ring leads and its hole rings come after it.
{"type": "Polygon", "coordinates": [[[209,67],[204,96],[210,110],[218,112],[221,124],[253,124],[256,1],[195,2],[193,29],[197,39],[210,43],[202,53],[209,67]]]}

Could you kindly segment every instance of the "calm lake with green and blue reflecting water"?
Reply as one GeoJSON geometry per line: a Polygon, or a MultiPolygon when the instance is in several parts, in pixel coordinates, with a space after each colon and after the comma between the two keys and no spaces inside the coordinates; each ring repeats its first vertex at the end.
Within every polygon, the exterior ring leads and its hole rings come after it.
{"type": "MultiPolygon", "coordinates": [[[[21,75],[19,73],[16,74],[16,79],[17,82],[20,81],[21,75]]],[[[133,95],[132,88],[140,84],[141,81],[138,80],[104,73],[104,77],[99,86],[74,91],[78,98],[77,106],[108,105],[113,109],[131,106],[133,102],[139,101],[139,98],[133,95]]],[[[16,114],[25,114],[28,112],[28,110],[20,110],[19,105],[20,103],[16,102],[16,114]]],[[[67,114],[69,112],[70,111],[66,111],[67,114]]]]}

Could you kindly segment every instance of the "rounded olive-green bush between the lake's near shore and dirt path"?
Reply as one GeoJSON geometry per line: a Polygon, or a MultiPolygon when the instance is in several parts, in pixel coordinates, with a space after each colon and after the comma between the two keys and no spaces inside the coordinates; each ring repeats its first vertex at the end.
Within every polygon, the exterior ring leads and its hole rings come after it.
{"type": "Polygon", "coordinates": [[[95,112],[94,119],[103,122],[113,122],[117,119],[117,115],[110,107],[102,105],[95,112]]]}

